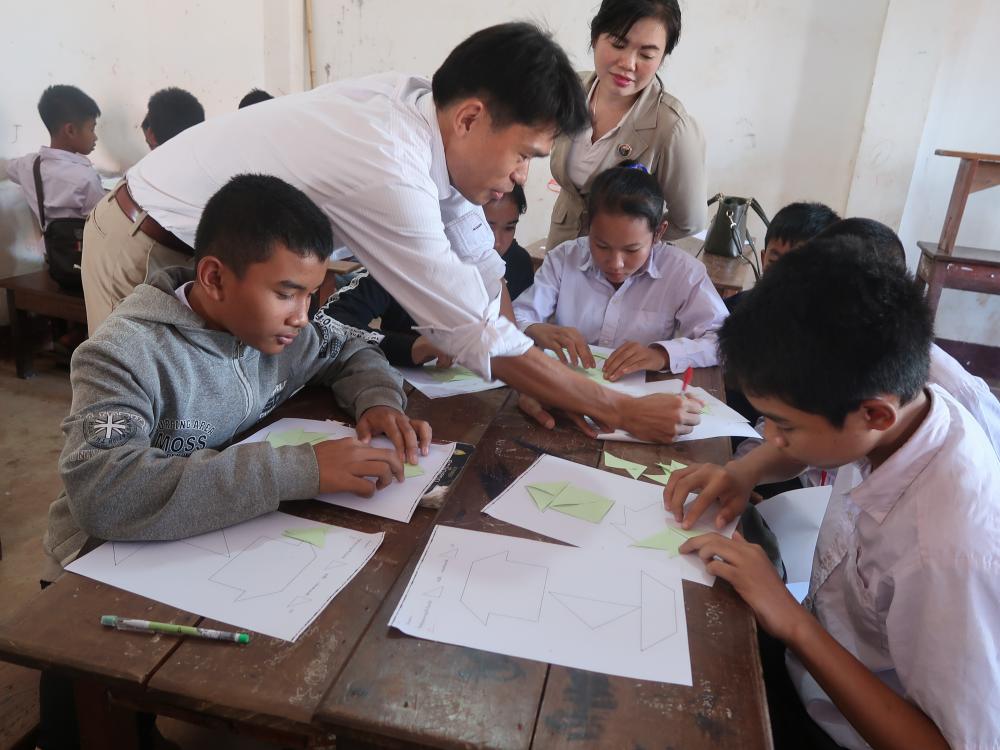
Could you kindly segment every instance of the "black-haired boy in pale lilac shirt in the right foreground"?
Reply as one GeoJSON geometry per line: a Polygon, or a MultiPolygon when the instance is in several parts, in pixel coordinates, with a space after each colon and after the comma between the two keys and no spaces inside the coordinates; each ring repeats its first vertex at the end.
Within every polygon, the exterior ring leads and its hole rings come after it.
{"type": "MultiPolygon", "coordinates": [[[[776,747],[1000,741],[1000,460],[971,415],[925,385],[932,336],[919,287],[854,237],[783,258],[719,333],[768,443],[725,467],[675,472],[668,510],[690,527],[718,500],[723,524],[762,481],[840,467],[805,606],[739,535],[681,548],[788,648],[769,692],[790,678],[804,711],[772,719],[776,747]],[[700,494],[685,513],[690,491],[700,494]]],[[[792,708],[787,696],[769,705],[792,708]]]]}

